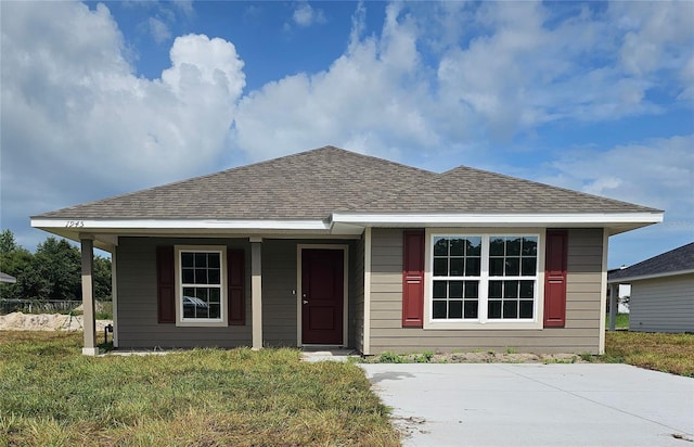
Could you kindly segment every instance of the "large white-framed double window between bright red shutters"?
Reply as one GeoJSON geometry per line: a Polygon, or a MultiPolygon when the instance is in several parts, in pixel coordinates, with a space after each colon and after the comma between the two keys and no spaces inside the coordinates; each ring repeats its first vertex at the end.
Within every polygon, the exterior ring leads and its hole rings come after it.
{"type": "Polygon", "coordinates": [[[425,329],[541,328],[543,233],[427,231],[425,329]]]}

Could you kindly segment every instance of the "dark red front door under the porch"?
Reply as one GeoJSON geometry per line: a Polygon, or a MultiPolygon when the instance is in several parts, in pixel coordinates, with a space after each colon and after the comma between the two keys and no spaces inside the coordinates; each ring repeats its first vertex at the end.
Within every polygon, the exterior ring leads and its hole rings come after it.
{"type": "Polygon", "coordinates": [[[343,344],[344,274],[342,250],[301,251],[304,344],[343,344]]]}

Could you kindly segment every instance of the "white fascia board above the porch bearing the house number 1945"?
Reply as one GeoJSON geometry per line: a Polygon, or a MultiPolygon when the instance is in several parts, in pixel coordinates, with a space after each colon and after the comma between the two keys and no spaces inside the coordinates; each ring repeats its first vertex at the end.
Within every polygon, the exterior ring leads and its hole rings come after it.
{"type": "Polygon", "coordinates": [[[218,220],[218,219],[85,219],[33,218],[31,227],[42,229],[64,228],[88,230],[309,230],[327,231],[331,226],[323,220],[218,220]]]}

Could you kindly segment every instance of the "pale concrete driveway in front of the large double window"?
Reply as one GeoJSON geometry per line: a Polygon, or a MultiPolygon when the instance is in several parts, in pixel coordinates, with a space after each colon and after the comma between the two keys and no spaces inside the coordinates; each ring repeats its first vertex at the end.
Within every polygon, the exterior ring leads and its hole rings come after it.
{"type": "Polygon", "coordinates": [[[694,379],[628,365],[361,365],[404,446],[694,447],[694,379]]]}

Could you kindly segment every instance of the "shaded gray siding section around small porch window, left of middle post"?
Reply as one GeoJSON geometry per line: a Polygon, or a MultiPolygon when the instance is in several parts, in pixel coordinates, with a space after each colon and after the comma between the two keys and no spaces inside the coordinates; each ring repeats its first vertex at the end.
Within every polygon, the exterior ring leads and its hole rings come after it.
{"type": "Polygon", "coordinates": [[[117,247],[119,348],[187,348],[250,346],[250,269],[246,268],[246,325],[179,328],[157,322],[156,247],[226,245],[243,248],[250,265],[248,240],[119,238],[117,247]]]}

